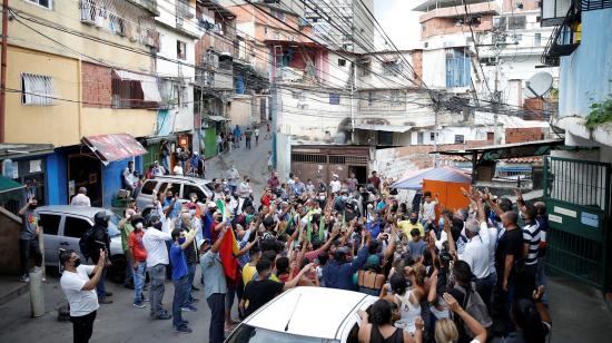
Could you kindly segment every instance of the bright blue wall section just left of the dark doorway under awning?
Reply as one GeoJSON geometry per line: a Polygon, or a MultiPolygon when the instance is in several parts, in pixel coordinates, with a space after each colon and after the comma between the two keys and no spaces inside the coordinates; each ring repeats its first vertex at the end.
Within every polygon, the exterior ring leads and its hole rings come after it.
{"type": "Polygon", "coordinates": [[[53,154],[47,155],[46,184],[49,205],[68,204],[68,160],[66,153],[56,149],[53,154]]]}

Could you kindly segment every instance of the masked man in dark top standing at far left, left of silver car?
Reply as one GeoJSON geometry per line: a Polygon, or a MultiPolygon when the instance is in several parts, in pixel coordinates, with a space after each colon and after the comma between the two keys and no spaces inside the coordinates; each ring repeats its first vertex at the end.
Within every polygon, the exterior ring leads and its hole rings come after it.
{"type": "Polygon", "coordinates": [[[38,214],[34,212],[38,202],[36,198],[31,198],[19,210],[23,227],[19,234],[19,252],[21,257],[21,282],[30,282],[28,277],[28,263],[30,261],[30,254],[34,256],[34,265],[37,268],[42,266],[42,254],[40,253],[40,245],[38,238],[40,235],[40,228],[38,227],[38,214]]]}

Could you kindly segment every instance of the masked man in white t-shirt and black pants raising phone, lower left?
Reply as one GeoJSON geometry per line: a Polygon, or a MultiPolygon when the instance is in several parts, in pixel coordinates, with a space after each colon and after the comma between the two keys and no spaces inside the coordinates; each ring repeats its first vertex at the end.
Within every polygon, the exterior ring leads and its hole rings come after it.
{"type": "Polygon", "coordinates": [[[75,342],[89,342],[93,333],[93,320],[100,305],[96,286],[105,268],[106,253],[100,249],[98,264],[81,265],[81,259],[75,251],[66,251],[60,255],[63,273],[60,285],[70,305],[70,322],[75,342]],[[89,275],[93,274],[91,278],[89,275]]]}

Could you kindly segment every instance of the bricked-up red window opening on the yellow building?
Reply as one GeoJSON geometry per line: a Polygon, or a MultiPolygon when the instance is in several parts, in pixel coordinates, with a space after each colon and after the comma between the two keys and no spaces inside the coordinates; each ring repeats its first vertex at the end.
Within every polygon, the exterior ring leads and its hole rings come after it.
{"type": "Polygon", "coordinates": [[[110,68],[81,62],[83,107],[110,107],[112,75],[110,68]]]}

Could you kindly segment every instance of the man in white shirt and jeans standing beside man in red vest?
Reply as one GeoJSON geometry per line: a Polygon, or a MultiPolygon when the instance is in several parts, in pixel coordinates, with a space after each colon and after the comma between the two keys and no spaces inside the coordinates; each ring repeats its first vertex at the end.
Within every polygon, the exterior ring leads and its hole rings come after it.
{"type": "MultiPolygon", "coordinates": [[[[147,272],[151,280],[149,288],[150,313],[149,315],[156,320],[169,320],[172,317],[161,304],[164,292],[166,291],[164,282],[166,281],[166,265],[168,259],[168,247],[166,242],[172,241],[169,233],[161,231],[161,222],[157,214],[151,213],[147,217],[149,227],[142,235],[142,245],[147,251],[147,272]]],[[[174,225],[169,225],[170,231],[174,225]]]]}

